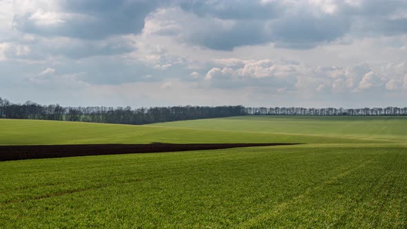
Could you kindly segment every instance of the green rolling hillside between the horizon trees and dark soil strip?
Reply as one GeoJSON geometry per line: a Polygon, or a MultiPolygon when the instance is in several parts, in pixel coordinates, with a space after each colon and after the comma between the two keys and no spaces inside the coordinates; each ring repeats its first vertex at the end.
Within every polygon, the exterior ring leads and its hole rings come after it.
{"type": "Polygon", "coordinates": [[[232,117],[130,126],[0,119],[0,145],[77,143],[390,143],[404,117],[232,117]]]}

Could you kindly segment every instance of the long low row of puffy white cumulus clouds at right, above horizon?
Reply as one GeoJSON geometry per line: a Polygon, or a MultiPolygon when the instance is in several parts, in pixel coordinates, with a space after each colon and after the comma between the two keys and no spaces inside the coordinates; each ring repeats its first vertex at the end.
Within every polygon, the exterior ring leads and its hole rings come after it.
{"type": "Polygon", "coordinates": [[[222,59],[215,61],[219,66],[211,68],[205,79],[211,86],[218,88],[284,88],[286,92],[302,91],[308,94],[329,93],[352,94],[366,90],[397,90],[403,79],[386,77],[390,72],[381,74],[366,64],[344,67],[312,67],[292,61],[272,61],[270,59],[239,60],[222,59]],[[221,66],[224,63],[224,66],[221,66]],[[235,63],[235,64],[232,64],[235,63]]]}

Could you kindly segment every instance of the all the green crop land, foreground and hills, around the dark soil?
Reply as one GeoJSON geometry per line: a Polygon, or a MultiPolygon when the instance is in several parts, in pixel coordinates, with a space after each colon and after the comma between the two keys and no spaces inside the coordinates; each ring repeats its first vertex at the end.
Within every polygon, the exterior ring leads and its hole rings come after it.
{"type": "Polygon", "coordinates": [[[0,145],[304,143],[0,162],[0,228],[406,228],[407,118],[0,119],[0,145]]]}

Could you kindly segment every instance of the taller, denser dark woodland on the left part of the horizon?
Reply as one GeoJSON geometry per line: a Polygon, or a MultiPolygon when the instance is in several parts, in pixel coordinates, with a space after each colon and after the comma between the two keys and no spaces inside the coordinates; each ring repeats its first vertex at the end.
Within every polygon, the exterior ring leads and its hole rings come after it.
{"type": "Polygon", "coordinates": [[[245,115],[243,106],[172,106],[132,109],[123,107],[43,106],[32,101],[10,103],[0,97],[0,118],[84,121],[95,123],[146,124],[164,121],[207,119],[245,115]]]}

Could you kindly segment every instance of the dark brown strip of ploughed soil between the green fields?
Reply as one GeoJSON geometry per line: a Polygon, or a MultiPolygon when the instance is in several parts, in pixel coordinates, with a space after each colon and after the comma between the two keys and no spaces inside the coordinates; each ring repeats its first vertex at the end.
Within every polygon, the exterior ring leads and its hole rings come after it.
{"type": "Polygon", "coordinates": [[[190,150],[215,150],[251,146],[283,146],[292,143],[194,143],[194,144],[97,144],[52,146],[0,146],[0,161],[77,157],[90,155],[121,155],[145,152],[176,152],[190,150]]]}

